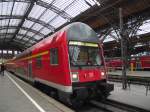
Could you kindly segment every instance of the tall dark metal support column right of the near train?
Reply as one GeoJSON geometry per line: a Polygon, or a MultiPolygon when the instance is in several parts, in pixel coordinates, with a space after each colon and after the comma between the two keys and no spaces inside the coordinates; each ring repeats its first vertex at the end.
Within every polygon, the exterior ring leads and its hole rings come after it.
{"type": "Polygon", "coordinates": [[[121,36],[121,56],[122,56],[122,88],[127,88],[127,75],[126,75],[126,39],[123,29],[123,15],[122,8],[119,8],[119,20],[120,20],[120,36],[121,36]]]}

